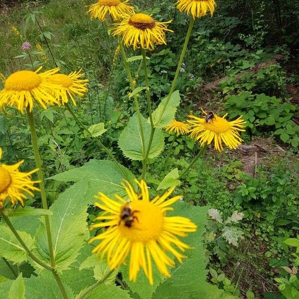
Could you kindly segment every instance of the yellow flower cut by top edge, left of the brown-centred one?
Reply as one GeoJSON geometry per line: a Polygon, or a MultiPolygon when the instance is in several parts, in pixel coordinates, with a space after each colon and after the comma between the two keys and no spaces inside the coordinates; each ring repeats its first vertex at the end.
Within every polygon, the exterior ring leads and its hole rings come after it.
{"type": "Polygon", "coordinates": [[[121,2],[120,0],[99,0],[97,3],[89,5],[88,12],[91,18],[98,18],[105,21],[107,13],[113,20],[121,20],[134,13],[134,7],[127,5],[129,0],[121,2]]]}

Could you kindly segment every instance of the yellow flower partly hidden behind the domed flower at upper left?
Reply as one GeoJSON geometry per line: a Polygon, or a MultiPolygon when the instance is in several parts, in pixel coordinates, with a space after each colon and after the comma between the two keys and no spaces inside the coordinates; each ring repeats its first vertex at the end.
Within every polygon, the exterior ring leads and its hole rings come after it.
{"type": "Polygon", "coordinates": [[[78,95],[82,97],[84,93],[88,91],[86,87],[88,79],[81,79],[82,76],[84,76],[84,74],[82,74],[80,70],[78,72],[72,72],[69,75],[54,74],[47,79],[48,82],[61,87],[61,92],[57,95],[60,105],[64,105],[71,99],[76,106],[75,96],[78,95]]]}

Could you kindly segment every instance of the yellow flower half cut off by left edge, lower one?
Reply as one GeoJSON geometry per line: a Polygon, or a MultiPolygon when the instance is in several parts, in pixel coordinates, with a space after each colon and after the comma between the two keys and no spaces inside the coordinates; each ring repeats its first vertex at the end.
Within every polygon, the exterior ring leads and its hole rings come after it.
{"type": "MultiPolygon", "coordinates": [[[[2,149],[0,148],[0,159],[2,156],[2,149]]],[[[19,166],[24,161],[20,161],[14,165],[5,165],[0,163],[0,208],[3,207],[5,200],[10,200],[12,205],[17,201],[23,206],[23,199],[26,195],[23,192],[33,196],[31,191],[39,191],[34,187],[34,183],[39,181],[31,181],[31,174],[37,171],[34,169],[30,172],[20,172],[19,166]]]]}

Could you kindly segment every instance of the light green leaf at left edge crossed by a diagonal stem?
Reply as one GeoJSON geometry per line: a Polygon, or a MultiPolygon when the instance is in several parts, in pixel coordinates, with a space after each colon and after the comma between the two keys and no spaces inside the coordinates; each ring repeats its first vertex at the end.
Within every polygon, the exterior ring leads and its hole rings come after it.
{"type": "MultiPolygon", "coordinates": [[[[26,261],[27,253],[10,229],[4,225],[0,225],[0,232],[0,256],[14,264],[26,261]]],[[[18,234],[28,249],[32,250],[34,248],[33,238],[23,231],[18,231],[18,234]]]]}

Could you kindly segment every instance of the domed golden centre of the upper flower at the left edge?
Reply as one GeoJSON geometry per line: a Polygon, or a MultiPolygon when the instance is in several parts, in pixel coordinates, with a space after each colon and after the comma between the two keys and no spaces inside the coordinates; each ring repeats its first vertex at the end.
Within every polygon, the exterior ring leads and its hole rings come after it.
{"type": "Polygon", "coordinates": [[[31,91],[38,87],[42,79],[32,71],[18,71],[11,74],[5,81],[5,89],[12,91],[31,91]]]}

